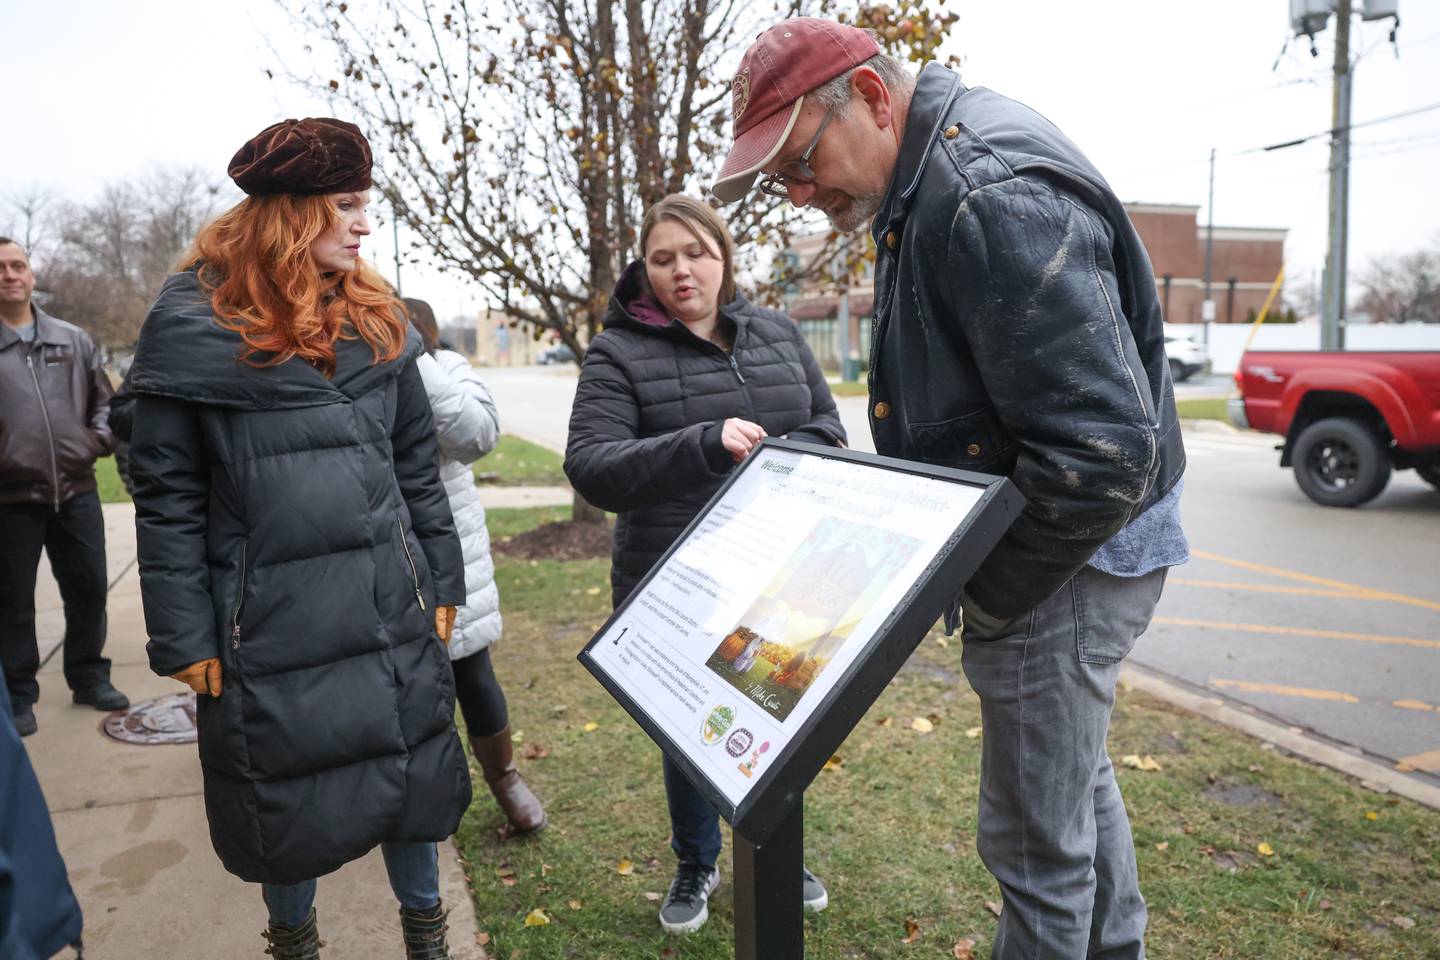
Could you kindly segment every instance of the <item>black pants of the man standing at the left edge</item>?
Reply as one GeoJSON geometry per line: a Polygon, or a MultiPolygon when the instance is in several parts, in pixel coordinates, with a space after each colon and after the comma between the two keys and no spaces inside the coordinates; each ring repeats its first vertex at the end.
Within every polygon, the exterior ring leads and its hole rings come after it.
{"type": "Polygon", "coordinates": [[[109,679],[105,646],[105,520],[99,494],[78,494],[59,510],[45,504],[0,504],[0,664],[10,699],[35,704],[40,649],[35,638],[35,577],[40,550],[65,600],[65,682],[91,689],[109,679]]]}

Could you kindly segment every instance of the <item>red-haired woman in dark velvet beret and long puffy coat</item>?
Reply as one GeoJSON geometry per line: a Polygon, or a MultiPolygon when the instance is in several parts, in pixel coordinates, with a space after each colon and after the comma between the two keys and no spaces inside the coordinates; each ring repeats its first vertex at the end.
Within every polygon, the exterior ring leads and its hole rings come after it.
{"type": "Polygon", "coordinates": [[[419,337],[360,259],[370,147],[275,124],[166,281],[130,368],[150,664],[197,694],[210,838],[272,957],[374,846],[406,956],[446,957],[436,841],[469,805],[445,643],[465,602],[419,337]]]}

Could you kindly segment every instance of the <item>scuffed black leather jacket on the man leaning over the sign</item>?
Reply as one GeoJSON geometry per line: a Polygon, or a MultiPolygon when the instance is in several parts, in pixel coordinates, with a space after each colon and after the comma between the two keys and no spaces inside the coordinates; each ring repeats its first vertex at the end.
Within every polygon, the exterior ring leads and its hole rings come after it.
{"type": "Polygon", "coordinates": [[[1064,134],[933,63],[874,237],[876,449],[1020,488],[966,586],[1018,616],[1185,469],[1149,256],[1064,134]]]}

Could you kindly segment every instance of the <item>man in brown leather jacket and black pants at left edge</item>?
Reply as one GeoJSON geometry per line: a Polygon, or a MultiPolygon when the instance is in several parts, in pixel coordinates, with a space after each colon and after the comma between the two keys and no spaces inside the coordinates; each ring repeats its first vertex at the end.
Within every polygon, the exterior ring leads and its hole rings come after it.
{"type": "Polygon", "coordinates": [[[24,248],[0,237],[0,664],[20,735],[35,733],[40,550],[65,602],[65,681],[76,704],[122,710],[105,646],[105,520],[95,458],[111,452],[109,379],[95,343],[30,302],[24,248]]]}

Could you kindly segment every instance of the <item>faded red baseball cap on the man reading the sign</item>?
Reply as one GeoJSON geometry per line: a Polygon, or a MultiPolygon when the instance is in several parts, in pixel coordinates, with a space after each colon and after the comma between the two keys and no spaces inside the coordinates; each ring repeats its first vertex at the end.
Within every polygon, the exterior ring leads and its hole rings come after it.
{"type": "Polygon", "coordinates": [[[805,95],[876,53],[864,30],[816,17],[783,20],[756,37],[730,82],[734,144],[710,191],[723,203],[749,193],[789,138],[805,95]]]}

